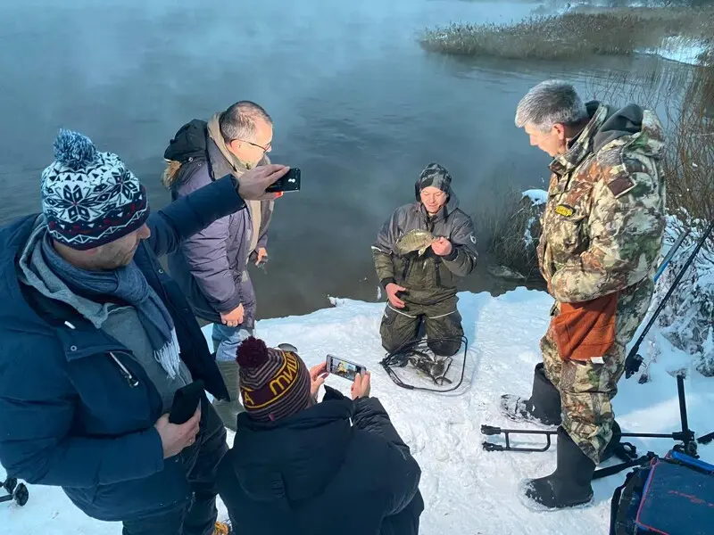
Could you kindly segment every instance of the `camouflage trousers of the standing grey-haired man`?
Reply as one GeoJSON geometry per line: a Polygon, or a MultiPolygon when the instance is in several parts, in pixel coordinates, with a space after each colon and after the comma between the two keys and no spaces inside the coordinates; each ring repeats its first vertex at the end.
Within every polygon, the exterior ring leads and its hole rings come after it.
{"type": "Polygon", "coordinates": [[[625,371],[625,345],[620,341],[603,355],[603,364],[563,361],[550,329],[541,339],[545,376],[560,391],[562,426],[595,464],[612,438],[612,399],[625,371]]]}

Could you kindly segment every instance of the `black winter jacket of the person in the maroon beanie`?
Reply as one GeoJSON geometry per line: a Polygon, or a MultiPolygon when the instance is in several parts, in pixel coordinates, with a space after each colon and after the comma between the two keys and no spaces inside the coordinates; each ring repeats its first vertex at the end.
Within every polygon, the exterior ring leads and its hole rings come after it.
{"type": "Polygon", "coordinates": [[[326,391],[321,403],[275,423],[238,416],[218,469],[235,531],[416,535],[421,470],[384,407],[326,391]]]}

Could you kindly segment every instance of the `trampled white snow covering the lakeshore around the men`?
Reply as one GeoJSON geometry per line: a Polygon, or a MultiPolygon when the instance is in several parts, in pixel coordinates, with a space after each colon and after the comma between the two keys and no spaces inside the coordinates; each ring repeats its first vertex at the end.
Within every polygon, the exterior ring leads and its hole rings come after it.
{"type": "MultiPolygon", "coordinates": [[[[523,288],[497,298],[486,293],[461,293],[460,298],[471,378],[461,395],[407,391],[392,383],[378,365],[384,356],[378,339],[382,303],[334,300],[335,308],[261,321],[258,330],[271,345],[294,344],[309,365],[319,363],[329,352],[371,369],[372,394],[382,400],[423,469],[420,488],[427,509],[420,532],[424,535],[604,535],[612,491],[625,473],[595,481],[590,508],[535,513],[521,505],[516,491],[521,478],[552,471],[554,449],[525,454],[481,448],[485,439],[481,424],[513,427],[499,416],[499,395],[530,391],[533,366],[539,360],[538,339],[547,324],[551,299],[544,292],[523,288]]],[[[677,431],[677,385],[667,373],[668,362],[676,358],[674,352],[664,351],[650,369],[651,383],[639,384],[636,377],[622,380],[614,404],[624,430],[677,431]]],[[[690,374],[686,380],[689,422],[698,435],[714,431],[712,381],[699,374],[690,374]]],[[[339,377],[330,377],[328,384],[345,392],[349,389],[349,383],[339,377]]],[[[674,444],[658,439],[633,441],[642,452],[651,449],[660,454],[674,444]]],[[[704,460],[714,461],[714,446],[700,447],[700,453],[704,460]]],[[[23,508],[0,504],[4,532],[111,535],[121,531],[118,523],[87,519],[62,490],[33,485],[29,492],[29,503],[23,508]]]]}

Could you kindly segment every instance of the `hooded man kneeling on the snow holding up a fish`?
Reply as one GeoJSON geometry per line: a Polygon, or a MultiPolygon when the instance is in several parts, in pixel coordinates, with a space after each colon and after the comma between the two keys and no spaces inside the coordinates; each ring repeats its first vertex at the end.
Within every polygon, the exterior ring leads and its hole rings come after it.
{"type": "Polygon", "coordinates": [[[461,315],[456,309],[456,278],[469,275],[477,262],[471,218],[459,210],[452,177],[437,163],[421,172],[416,202],[394,211],[377,235],[372,256],[388,302],[379,332],[382,345],[394,351],[419,337],[422,328],[436,355],[452,356],[461,347],[461,315]],[[420,241],[401,247],[402,239],[422,231],[420,241]],[[415,250],[416,249],[416,250],[415,250]]]}

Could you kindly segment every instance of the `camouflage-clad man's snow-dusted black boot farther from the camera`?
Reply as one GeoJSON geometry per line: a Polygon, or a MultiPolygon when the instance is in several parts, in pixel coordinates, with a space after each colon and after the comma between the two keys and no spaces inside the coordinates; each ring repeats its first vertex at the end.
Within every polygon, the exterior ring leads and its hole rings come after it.
{"type": "Polygon", "coordinates": [[[542,362],[535,365],[530,398],[503,394],[501,412],[516,422],[536,421],[545,425],[560,425],[560,392],[545,376],[542,362]]]}

